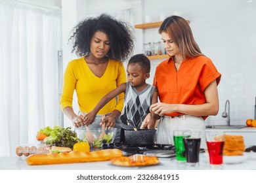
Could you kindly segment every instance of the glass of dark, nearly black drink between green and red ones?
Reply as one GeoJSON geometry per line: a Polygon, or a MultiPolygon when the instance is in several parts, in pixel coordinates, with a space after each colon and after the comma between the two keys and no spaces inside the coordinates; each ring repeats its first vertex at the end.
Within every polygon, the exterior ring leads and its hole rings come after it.
{"type": "Polygon", "coordinates": [[[190,131],[189,135],[183,138],[183,141],[185,146],[186,164],[188,166],[199,165],[201,132],[190,131]]]}

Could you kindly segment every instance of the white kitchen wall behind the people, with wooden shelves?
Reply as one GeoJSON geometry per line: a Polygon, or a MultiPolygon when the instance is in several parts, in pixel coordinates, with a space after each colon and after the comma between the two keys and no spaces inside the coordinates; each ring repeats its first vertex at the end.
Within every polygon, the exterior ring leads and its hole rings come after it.
{"type": "MultiPolygon", "coordinates": [[[[77,7],[77,12],[83,12],[86,16],[94,10],[108,12],[124,7],[133,8],[133,21],[130,22],[132,25],[144,23],[145,16],[148,16],[152,22],[158,22],[160,13],[165,16],[179,13],[190,20],[190,27],[203,54],[212,59],[222,74],[218,87],[219,114],[207,118],[207,124],[225,124],[221,114],[224,111],[226,99],[230,100],[231,124],[244,125],[247,118],[254,117],[256,0],[87,0],[87,7],[77,7]]],[[[66,8],[66,11],[62,10],[62,14],[68,15],[70,11],[66,8]]],[[[141,52],[144,41],[161,40],[157,28],[144,31],[135,29],[135,35],[135,54],[141,52]]],[[[66,39],[63,42],[66,42],[66,39]]],[[[152,83],[154,69],[160,61],[152,60],[149,83],[152,83]]],[[[68,60],[64,60],[65,62],[67,63],[68,60]]]]}

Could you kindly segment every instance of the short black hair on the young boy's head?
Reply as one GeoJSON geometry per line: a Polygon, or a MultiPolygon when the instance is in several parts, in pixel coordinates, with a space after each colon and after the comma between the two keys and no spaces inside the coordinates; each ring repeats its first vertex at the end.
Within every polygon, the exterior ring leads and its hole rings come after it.
{"type": "Polygon", "coordinates": [[[145,73],[150,73],[150,59],[144,56],[144,54],[137,54],[132,56],[129,59],[128,65],[130,63],[138,63],[145,73]]]}

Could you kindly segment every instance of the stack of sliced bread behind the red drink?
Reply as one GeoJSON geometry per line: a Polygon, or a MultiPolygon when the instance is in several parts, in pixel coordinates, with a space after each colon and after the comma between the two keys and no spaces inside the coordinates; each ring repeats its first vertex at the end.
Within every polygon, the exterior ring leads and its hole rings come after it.
{"type": "Polygon", "coordinates": [[[242,156],[244,155],[245,144],[242,135],[224,135],[225,143],[223,148],[224,156],[242,156]]]}

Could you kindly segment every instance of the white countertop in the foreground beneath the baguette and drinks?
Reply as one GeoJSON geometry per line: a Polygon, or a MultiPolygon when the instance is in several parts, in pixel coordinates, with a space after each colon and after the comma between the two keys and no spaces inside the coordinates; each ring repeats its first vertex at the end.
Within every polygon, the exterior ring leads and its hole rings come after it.
{"type": "MultiPolygon", "coordinates": [[[[251,152],[252,153],[252,152],[251,152]]],[[[223,164],[224,170],[256,170],[256,153],[251,156],[245,153],[242,163],[223,164]]],[[[160,165],[148,167],[117,167],[110,161],[90,163],[68,163],[58,165],[33,165],[26,163],[26,157],[0,158],[0,170],[211,170],[209,159],[205,153],[200,154],[200,165],[198,167],[187,167],[177,164],[175,158],[160,158],[160,165]]]]}

